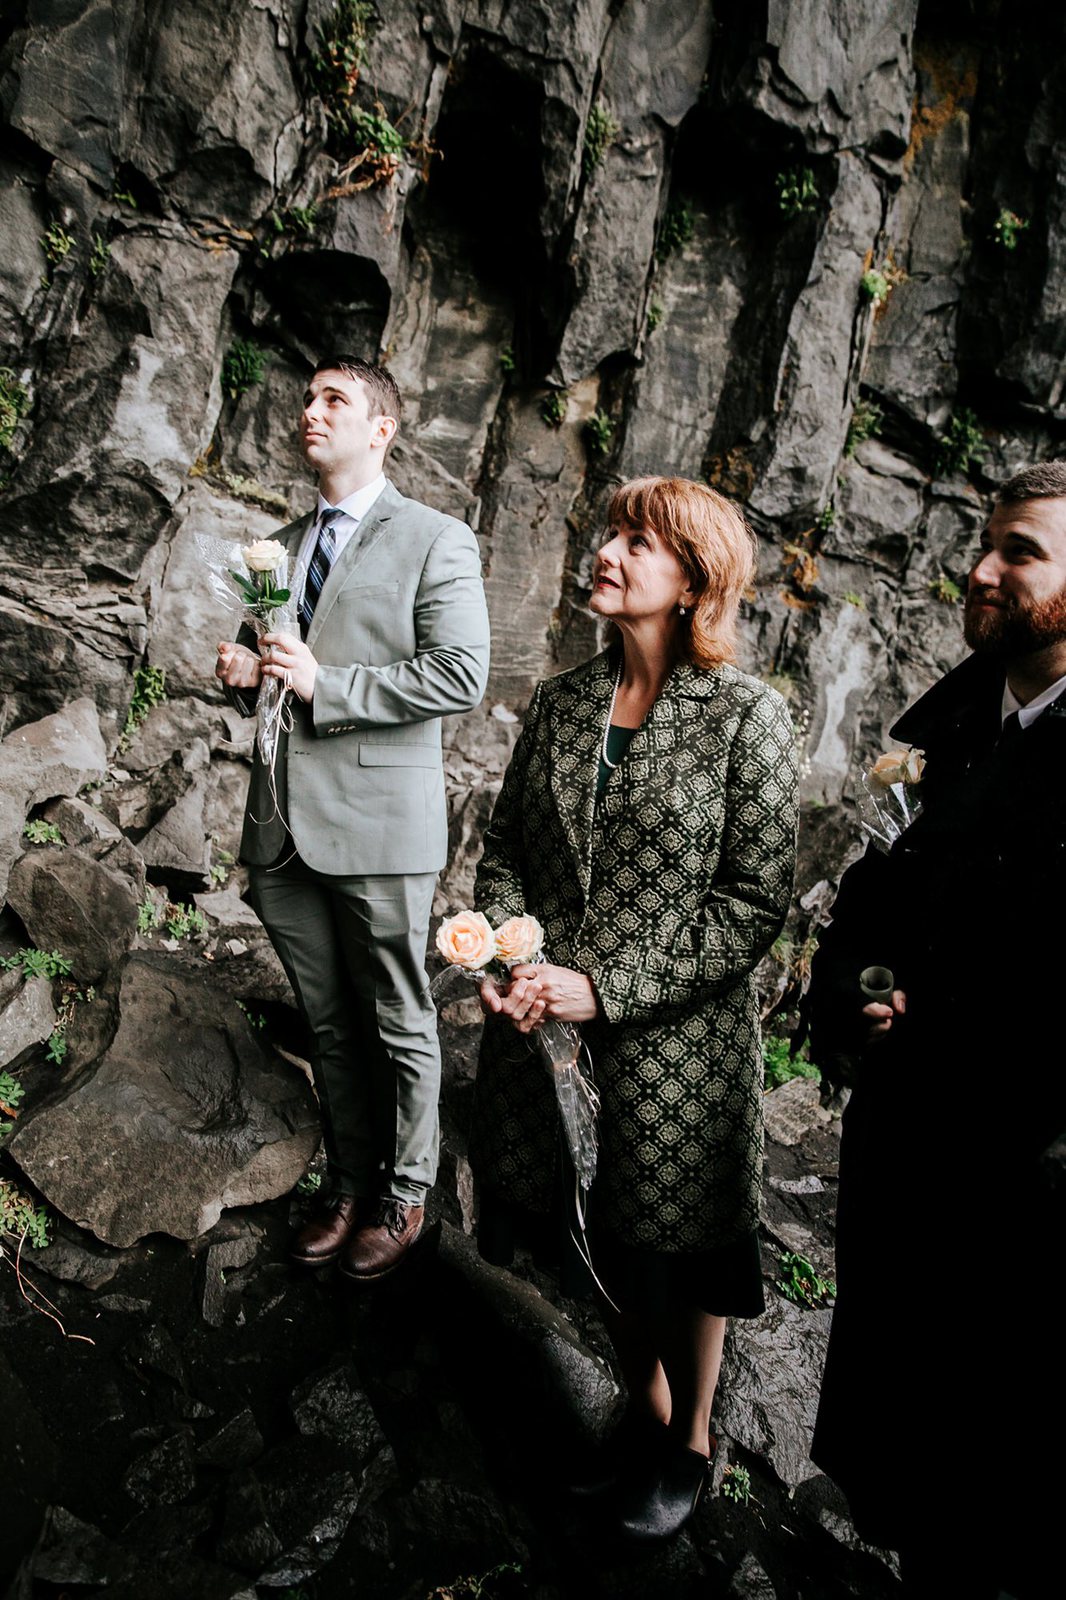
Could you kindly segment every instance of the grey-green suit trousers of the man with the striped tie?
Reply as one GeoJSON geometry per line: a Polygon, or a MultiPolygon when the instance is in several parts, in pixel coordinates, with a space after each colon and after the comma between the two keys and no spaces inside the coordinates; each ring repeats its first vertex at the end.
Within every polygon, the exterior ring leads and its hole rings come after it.
{"type": "Polygon", "coordinates": [[[423,1205],[437,1176],[440,1045],[426,979],[435,872],[339,877],[290,845],[250,901],[314,1037],[330,1176],[423,1205]]]}

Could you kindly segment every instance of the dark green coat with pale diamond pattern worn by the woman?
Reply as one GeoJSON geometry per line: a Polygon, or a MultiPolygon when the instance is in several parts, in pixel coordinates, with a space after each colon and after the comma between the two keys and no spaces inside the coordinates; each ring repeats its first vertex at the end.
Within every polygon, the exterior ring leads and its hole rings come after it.
{"type": "MultiPolygon", "coordinates": [[[[679,666],[597,805],[616,654],[539,683],[477,869],[493,925],[522,910],[551,962],[592,978],[600,1214],[629,1245],[728,1245],[759,1219],[762,1053],[754,968],[784,920],[795,762],[784,701],[735,667],[679,666]]],[[[485,1026],[471,1160],[547,1211],[552,1086],[485,1026]]]]}

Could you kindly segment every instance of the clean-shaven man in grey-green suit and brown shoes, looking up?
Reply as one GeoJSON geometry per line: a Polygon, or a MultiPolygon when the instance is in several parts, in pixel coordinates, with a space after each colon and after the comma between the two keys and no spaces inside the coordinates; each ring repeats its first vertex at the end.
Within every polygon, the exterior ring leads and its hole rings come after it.
{"type": "Polygon", "coordinates": [[[488,675],[477,541],[384,477],[399,418],[383,366],[319,363],[299,419],[319,502],[279,534],[290,574],[307,568],[301,637],[242,634],[216,664],[246,714],[264,674],[293,690],[274,790],[256,752],[242,859],[314,1038],[331,1195],[291,1256],[360,1280],[403,1261],[437,1173],[440,718],[477,706],[488,675]]]}

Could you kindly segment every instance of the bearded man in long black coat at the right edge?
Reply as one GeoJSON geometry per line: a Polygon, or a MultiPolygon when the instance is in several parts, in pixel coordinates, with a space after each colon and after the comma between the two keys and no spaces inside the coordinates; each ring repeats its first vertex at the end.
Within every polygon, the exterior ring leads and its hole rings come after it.
{"type": "Polygon", "coordinates": [[[892,730],[925,752],[922,811],[845,872],[815,958],[812,1053],[853,1093],[812,1454],[909,1594],[1039,1600],[1064,1504],[1066,461],[999,491],[965,640],[892,730]],[[874,965],[892,1003],[864,1003],[874,965]]]}

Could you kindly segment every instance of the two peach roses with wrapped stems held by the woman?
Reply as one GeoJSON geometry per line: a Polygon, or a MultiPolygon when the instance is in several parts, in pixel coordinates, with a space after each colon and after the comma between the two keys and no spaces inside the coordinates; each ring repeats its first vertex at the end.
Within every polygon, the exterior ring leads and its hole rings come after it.
{"type": "MultiPolygon", "coordinates": [[[[477,984],[507,984],[512,966],[544,960],[543,946],[544,930],[536,917],[528,914],[507,917],[498,928],[493,928],[479,910],[461,910],[455,917],[445,917],[437,930],[437,950],[448,965],[434,978],[429,992],[440,1000],[456,974],[471,978],[477,984]]],[[[552,1075],[576,1181],[581,1189],[589,1189],[595,1178],[595,1117],[600,1101],[591,1074],[581,1070],[583,1050],[587,1058],[581,1030],[573,1022],[547,1018],[530,1035],[530,1046],[539,1051],[552,1075]]],[[[578,1216],[581,1218],[581,1205],[578,1216]]]]}

